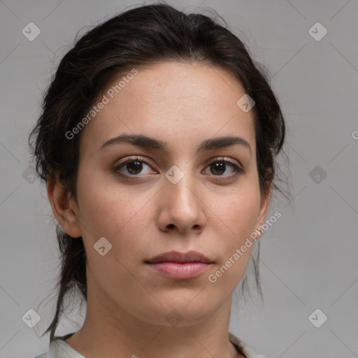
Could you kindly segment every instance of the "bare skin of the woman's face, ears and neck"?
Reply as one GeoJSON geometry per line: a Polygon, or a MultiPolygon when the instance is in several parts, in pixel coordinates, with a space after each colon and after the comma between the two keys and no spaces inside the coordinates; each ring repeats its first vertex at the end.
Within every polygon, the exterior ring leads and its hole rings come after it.
{"type": "Polygon", "coordinates": [[[259,192],[252,110],[236,105],[243,94],[241,83],[217,67],[165,62],[138,69],[80,134],[77,201],[58,180],[48,181],[59,224],[85,243],[87,315],[66,340],[85,357],[242,357],[228,330],[231,294],[251,248],[216,282],[208,275],[265,221],[271,195],[259,192]],[[120,134],[156,138],[168,152],[129,143],[99,150],[120,134]],[[219,136],[244,138],[252,154],[243,145],[196,152],[219,136]],[[133,155],[148,164],[116,171],[133,155]],[[220,157],[245,173],[210,166],[220,157]],[[173,165],[184,173],[176,184],[165,176],[173,165]],[[94,249],[101,237],[112,244],[103,256],[94,249]],[[214,264],[196,278],[173,280],[144,262],[171,250],[196,250],[214,264]],[[182,317],[176,327],[166,320],[173,309],[182,317]]]}

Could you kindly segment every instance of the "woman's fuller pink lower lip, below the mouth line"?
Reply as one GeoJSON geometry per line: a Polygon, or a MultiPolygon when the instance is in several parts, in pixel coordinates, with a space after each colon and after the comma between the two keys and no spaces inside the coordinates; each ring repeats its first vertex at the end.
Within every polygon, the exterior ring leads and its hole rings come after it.
{"type": "Polygon", "coordinates": [[[166,278],[185,279],[193,278],[208,269],[210,264],[203,264],[203,262],[187,262],[179,264],[177,262],[158,262],[157,264],[149,264],[155,272],[166,278]]]}

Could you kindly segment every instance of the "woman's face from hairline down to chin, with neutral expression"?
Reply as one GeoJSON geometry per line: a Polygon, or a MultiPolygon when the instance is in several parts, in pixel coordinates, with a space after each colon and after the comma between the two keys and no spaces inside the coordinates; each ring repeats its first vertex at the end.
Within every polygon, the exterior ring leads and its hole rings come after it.
{"type": "Polygon", "coordinates": [[[234,254],[266,216],[252,110],[236,105],[245,94],[236,78],[203,64],[155,64],[124,82],[118,93],[104,92],[108,103],[80,134],[73,205],[89,294],[113,317],[123,310],[169,326],[176,309],[182,326],[194,324],[231,299],[251,248],[234,254]],[[108,143],[123,135],[150,139],[108,143]],[[229,143],[215,141],[222,137],[243,141],[220,145],[229,143]],[[211,264],[178,278],[174,266],[164,273],[146,263],[189,250],[211,264]]]}

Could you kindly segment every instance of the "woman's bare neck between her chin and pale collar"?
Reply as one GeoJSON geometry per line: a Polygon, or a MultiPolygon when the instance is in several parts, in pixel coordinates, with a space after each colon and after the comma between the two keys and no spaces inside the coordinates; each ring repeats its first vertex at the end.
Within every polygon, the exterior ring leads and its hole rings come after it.
{"type": "Polygon", "coordinates": [[[242,357],[229,342],[230,311],[231,296],[207,317],[187,321],[185,325],[183,320],[174,327],[169,323],[151,324],[145,317],[124,310],[108,296],[89,294],[83,327],[65,342],[86,358],[242,357]]]}

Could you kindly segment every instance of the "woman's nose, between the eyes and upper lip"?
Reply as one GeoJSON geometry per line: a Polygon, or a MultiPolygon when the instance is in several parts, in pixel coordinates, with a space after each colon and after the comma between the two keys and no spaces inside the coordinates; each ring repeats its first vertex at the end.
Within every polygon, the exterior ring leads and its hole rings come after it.
{"type": "Polygon", "coordinates": [[[176,184],[165,179],[158,201],[157,224],[162,231],[199,234],[206,226],[203,190],[189,174],[185,173],[176,184]]]}

